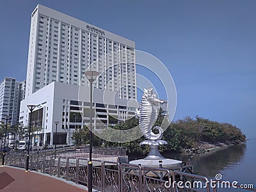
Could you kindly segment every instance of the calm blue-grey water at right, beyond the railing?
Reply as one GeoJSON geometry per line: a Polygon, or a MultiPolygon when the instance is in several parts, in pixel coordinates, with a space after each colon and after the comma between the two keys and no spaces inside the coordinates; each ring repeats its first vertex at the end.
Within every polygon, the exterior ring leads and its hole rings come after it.
{"type": "MultiPolygon", "coordinates": [[[[221,148],[204,154],[164,154],[165,157],[188,161],[193,156],[193,171],[215,179],[216,174],[222,180],[237,181],[239,184],[253,184],[256,188],[256,139],[245,143],[221,148]]],[[[242,189],[218,189],[218,191],[245,191],[242,189]]],[[[247,191],[247,190],[246,190],[247,191]]]]}

